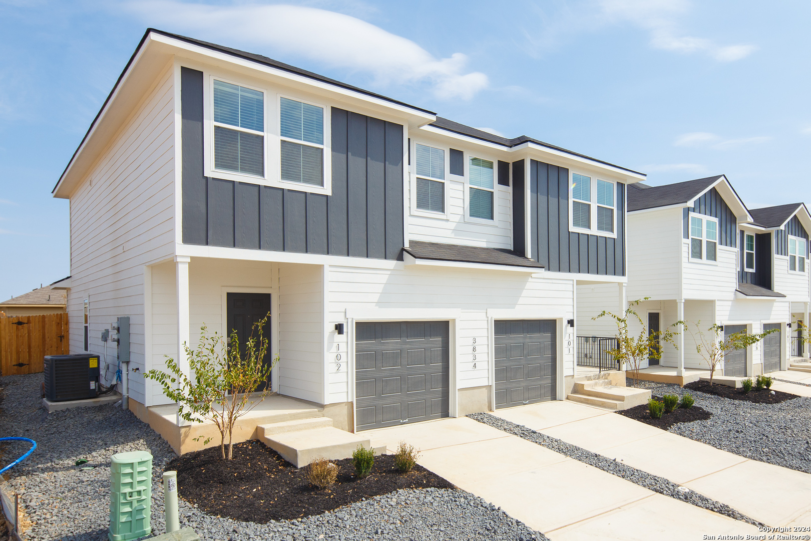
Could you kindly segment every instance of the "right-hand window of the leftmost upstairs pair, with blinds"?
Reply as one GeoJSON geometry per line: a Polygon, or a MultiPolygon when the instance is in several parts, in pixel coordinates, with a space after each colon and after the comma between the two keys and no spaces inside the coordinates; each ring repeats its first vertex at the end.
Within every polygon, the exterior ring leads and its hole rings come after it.
{"type": "Polygon", "coordinates": [[[282,97],[281,179],[324,186],[324,108],[282,97]]]}

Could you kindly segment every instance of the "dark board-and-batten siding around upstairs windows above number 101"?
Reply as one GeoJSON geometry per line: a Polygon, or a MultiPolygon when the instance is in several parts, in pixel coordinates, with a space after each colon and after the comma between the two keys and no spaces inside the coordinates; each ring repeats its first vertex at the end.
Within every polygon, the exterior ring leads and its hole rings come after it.
{"type": "MultiPolygon", "coordinates": [[[[513,164],[513,181],[516,170],[513,164]]],[[[513,194],[517,191],[516,182],[513,194]]],[[[616,182],[615,212],[616,238],[570,232],[569,170],[543,161],[530,161],[530,256],[547,271],[624,276],[625,185],[622,182],[616,182]]],[[[515,238],[518,246],[518,236],[515,238]]]]}

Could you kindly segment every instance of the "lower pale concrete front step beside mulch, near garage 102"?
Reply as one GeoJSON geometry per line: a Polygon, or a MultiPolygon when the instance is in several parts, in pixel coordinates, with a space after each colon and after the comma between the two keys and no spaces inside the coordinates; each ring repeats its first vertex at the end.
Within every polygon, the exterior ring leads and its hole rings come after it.
{"type": "Polygon", "coordinates": [[[314,458],[349,458],[358,445],[367,449],[371,447],[368,436],[358,436],[336,427],[281,432],[261,436],[260,440],[297,468],[307,466],[314,458]]]}

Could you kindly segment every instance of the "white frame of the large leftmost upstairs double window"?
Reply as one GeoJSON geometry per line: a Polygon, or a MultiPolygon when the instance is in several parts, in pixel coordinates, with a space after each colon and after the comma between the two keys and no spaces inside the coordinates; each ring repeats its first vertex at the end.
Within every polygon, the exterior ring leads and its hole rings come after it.
{"type": "MultiPolygon", "coordinates": [[[[206,79],[208,84],[204,85],[204,107],[203,107],[203,139],[204,139],[204,175],[213,178],[222,178],[224,180],[233,180],[235,182],[248,182],[251,184],[259,184],[260,186],[272,186],[277,188],[286,188],[289,190],[307,191],[310,193],[332,195],[333,194],[333,175],[332,175],[332,118],[331,108],[324,101],[313,101],[311,97],[294,96],[289,93],[279,92],[277,88],[271,85],[262,85],[258,82],[248,83],[243,80],[236,80],[230,78],[221,72],[211,71],[206,72],[206,79]],[[230,125],[224,125],[217,122],[217,126],[234,128],[238,131],[245,131],[247,133],[255,133],[255,135],[264,135],[264,177],[257,177],[251,174],[238,173],[235,171],[224,171],[214,169],[214,79],[219,79],[225,83],[236,84],[241,87],[251,88],[258,92],[264,93],[264,134],[259,132],[246,130],[230,125]],[[309,105],[315,105],[324,109],[324,186],[313,186],[311,184],[304,184],[303,182],[290,182],[281,180],[281,98],[286,97],[290,100],[301,101],[309,105]]],[[[315,144],[307,143],[305,141],[292,140],[298,144],[308,144],[318,146],[315,144]]]]}

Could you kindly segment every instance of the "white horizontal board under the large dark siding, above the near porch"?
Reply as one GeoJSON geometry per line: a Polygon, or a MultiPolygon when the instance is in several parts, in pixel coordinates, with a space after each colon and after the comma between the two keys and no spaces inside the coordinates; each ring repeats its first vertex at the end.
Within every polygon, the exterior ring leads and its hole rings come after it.
{"type": "Polygon", "coordinates": [[[304,254],[294,251],[255,250],[253,248],[232,248],[222,246],[201,246],[198,244],[175,244],[175,257],[208,257],[235,261],[268,261],[274,263],[300,263],[312,265],[332,265],[350,268],[382,268],[402,270],[402,261],[374,260],[348,255],[304,254]]]}

